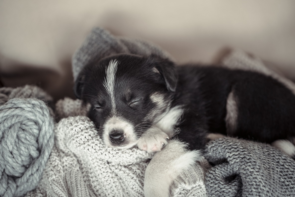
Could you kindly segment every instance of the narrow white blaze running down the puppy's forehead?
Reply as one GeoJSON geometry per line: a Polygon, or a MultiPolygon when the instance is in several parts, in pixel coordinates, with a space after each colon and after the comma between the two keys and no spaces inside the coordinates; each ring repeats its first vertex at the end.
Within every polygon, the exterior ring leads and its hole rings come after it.
{"type": "Polygon", "coordinates": [[[114,85],[115,85],[115,76],[117,72],[117,65],[118,65],[117,60],[111,60],[109,62],[108,68],[106,69],[106,79],[104,81],[104,87],[106,88],[106,91],[109,94],[111,99],[113,114],[116,113],[114,85]]]}

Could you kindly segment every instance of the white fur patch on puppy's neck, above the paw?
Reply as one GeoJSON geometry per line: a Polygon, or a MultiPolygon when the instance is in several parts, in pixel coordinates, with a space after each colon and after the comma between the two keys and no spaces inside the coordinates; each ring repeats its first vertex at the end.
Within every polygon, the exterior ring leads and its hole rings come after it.
{"type": "Polygon", "coordinates": [[[168,137],[172,137],[175,134],[174,126],[177,124],[182,114],[183,109],[181,106],[175,106],[164,113],[163,116],[161,116],[161,119],[155,125],[165,132],[168,137]]]}

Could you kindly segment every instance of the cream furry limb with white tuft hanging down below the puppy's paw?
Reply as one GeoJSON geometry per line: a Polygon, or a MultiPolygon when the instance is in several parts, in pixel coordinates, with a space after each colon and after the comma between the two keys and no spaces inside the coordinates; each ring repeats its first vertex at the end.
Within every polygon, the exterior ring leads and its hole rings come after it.
{"type": "Polygon", "coordinates": [[[145,170],[145,197],[168,197],[173,179],[201,158],[200,151],[187,151],[185,146],[178,140],[171,140],[155,154],[145,170]]]}

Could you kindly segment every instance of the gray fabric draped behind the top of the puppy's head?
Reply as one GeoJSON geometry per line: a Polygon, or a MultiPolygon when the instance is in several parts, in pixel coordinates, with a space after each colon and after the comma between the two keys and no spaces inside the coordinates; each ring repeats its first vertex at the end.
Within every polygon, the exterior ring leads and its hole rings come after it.
{"type": "Polygon", "coordinates": [[[139,39],[116,37],[107,30],[96,27],[92,29],[82,46],[73,55],[72,70],[74,81],[76,81],[81,69],[88,63],[119,53],[135,55],[155,54],[172,60],[168,52],[165,52],[154,43],[139,39]]]}

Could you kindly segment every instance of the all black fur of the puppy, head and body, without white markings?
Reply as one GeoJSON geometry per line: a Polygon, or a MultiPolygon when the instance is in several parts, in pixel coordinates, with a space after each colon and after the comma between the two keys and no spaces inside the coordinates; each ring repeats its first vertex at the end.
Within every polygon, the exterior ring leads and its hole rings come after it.
{"type": "MultiPolygon", "coordinates": [[[[190,149],[203,149],[208,132],[227,134],[226,101],[234,90],[239,102],[233,136],[268,143],[295,136],[295,96],[273,78],[214,66],[175,68],[171,61],[154,55],[120,54],[90,64],[81,71],[74,91],[78,98],[91,104],[89,117],[97,128],[112,115],[103,83],[105,70],[114,59],[119,61],[115,85],[117,113],[132,125],[141,122],[152,125],[168,107],[182,106],[183,116],[175,125],[180,129],[176,137],[188,142],[190,149]],[[171,101],[171,106],[156,110],[157,106],[150,99],[155,92],[171,101]],[[132,103],[134,100],[138,101],[132,103]],[[147,116],[153,111],[156,111],[153,116],[147,116]]],[[[138,132],[137,137],[141,133],[138,132]]]]}

